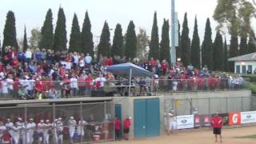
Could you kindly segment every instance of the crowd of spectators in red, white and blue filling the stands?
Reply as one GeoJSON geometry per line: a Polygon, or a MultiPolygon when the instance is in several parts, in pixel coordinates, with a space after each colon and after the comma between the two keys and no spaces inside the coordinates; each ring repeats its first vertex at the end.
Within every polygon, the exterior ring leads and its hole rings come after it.
{"type": "MultiPolygon", "coordinates": [[[[103,57],[102,54],[94,58],[90,54],[71,53],[67,50],[27,49],[23,52],[6,46],[0,61],[0,93],[2,98],[12,96],[18,99],[90,95],[90,90],[105,89],[106,82],[120,84],[121,78],[107,72],[105,66],[124,62],[133,62],[154,73],[154,81],[150,78],[134,78],[133,84],[138,86],[138,90],[134,90],[137,93],[135,95],[158,90],[238,89],[242,86],[241,77],[210,73],[207,66],[197,70],[193,66],[184,67],[181,62],[170,66],[166,60],[160,62],[154,58],[112,58],[103,57]]],[[[119,94],[125,94],[122,88],[117,89],[119,94]]]]}

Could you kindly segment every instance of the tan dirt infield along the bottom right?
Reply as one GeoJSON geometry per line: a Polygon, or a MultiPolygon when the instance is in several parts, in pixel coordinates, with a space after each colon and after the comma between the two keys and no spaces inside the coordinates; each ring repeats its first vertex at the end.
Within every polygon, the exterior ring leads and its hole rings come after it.
{"type": "MultiPolygon", "coordinates": [[[[235,138],[256,134],[256,126],[224,129],[222,130],[223,142],[227,144],[255,144],[256,139],[235,138]]],[[[156,138],[143,138],[132,141],[106,142],[108,144],[210,144],[214,142],[214,135],[211,130],[188,132],[173,135],[163,135],[156,138]]],[[[220,143],[220,142],[218,142],[220,143]]]]}

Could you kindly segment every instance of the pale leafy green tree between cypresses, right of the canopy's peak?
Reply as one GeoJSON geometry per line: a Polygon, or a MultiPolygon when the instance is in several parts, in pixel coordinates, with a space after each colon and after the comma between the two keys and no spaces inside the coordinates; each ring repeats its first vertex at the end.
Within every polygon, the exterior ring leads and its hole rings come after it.
{"type": "Polygon", "coordinates": [[[136,58],[147,59],[149,57],[149,38],[146,30],[139,28],[137,34],[136,58]]]}

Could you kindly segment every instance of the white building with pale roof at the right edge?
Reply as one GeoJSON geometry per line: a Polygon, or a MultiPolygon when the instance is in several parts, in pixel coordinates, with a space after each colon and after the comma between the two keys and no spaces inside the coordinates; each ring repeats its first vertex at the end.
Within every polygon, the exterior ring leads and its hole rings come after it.
{"type": "Polygon", "coordinates": [[[229,62],[234,62],[234,73],[246,74],[247,70],[253,73],[256,70],[256,53],[229,58],[229,62]]]}

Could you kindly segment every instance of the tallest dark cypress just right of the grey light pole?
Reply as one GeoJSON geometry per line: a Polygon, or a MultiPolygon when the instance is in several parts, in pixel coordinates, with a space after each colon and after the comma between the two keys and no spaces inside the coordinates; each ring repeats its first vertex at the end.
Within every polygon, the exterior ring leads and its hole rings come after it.
{"type": "Polygon", "coordinates": [[[186,18],[186,13],[184,15],[184,21],[182,25],[182,36],[181,36],[181,52],[182,52],[182,63],[184,66],[190,65],[190,38],[189,38],[189,27],[186,18]]]}

